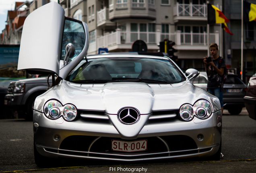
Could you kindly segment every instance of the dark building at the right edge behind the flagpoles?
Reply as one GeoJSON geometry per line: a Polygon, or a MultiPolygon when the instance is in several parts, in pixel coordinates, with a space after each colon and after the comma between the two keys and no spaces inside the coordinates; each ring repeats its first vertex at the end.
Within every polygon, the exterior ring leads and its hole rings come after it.
{"type": "MultiPolygon", "coordinates": [[[[256,0],[246,0],[247,2],[256,4],[256,0]]],[[[242,40],[242,1],[241,0],[225,0],[223,1],[223,13],[230,22],[227,23],[234,35],[223,35],[223,49],[226,62],[232,68],[236,68],[238,73],[241,70],[241,56],[243,52],[244,74],[247,81],[252,74],[256,73],[255,68],[255,48],[256,48],[256,22],[243,22],[243,40],[242,40]],[[241,42],[243,43],[243,51],[241,51],[241,42]]]]}

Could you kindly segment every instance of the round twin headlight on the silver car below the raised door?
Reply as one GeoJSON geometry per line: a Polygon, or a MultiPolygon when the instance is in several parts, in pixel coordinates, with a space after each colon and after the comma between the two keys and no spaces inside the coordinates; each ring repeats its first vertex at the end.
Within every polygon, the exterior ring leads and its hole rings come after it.
{"type": "Polygon", "coordinates": [[[47,101],[43,109],[45,115],[49,119],[58,119],[61,116],[66,121],[73,121],[76,118],[76,107],[71,104],[62,106],[62,104],[56,100],[47,101]]]}

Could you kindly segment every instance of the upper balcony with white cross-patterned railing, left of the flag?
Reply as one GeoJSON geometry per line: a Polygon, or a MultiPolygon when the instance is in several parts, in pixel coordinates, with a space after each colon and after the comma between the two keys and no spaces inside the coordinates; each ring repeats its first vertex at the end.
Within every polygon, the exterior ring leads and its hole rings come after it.
{"type": "Polygon", "coordinates": [[[207,5],[179,4],[173,7],[174,22],[179,20],[203,20],[207,21],[207,5]]]}

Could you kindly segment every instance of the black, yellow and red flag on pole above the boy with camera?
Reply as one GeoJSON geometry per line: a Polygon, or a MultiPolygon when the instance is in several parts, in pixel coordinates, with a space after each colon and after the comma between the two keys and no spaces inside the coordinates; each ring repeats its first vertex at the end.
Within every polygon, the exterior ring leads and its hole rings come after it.
{"type": "Polygon", "coordinates": [[[219,10],[219,8],[212,4],[207,4],[207,11],[208,24],[221,23],[223,24],[223,29],[230,35],[233,35],[226,24],[227,22],[229,22],[229,19],[226,18],[226,16],[223,14],[223,12],[221,12],[221,10],[219,10]]]}

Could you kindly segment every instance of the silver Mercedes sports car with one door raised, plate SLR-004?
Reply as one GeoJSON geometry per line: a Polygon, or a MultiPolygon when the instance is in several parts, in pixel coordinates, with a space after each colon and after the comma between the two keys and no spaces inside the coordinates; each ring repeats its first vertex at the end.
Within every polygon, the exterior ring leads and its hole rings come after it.
{"type": "Polygon", "coordinates": [[[221,155],[221,106],[166,56],[87,56],[87,24],[51,2],[23,26],[18,69],[57,74],[33,111],[38,165],[71,157],[145,161],[221,155]],[[47,11],[47,13],[45,13],[47,11]]]}

